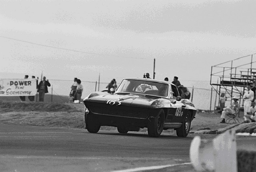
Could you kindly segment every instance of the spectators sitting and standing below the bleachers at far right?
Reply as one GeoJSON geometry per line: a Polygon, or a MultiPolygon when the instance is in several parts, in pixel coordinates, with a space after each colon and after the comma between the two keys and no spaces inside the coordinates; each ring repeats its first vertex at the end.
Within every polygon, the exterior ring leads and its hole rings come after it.
{"type": "MultiPolygon", "coordinates": [[[[246,120],[250,119],[252,122],[256,121],[255,91],[256,91],[256,83],[254,81],[252,85],[247,86],[247,90],[244,92],[244,95],[243,95],[244,118],[246,118],[246,120]]],[[[224,93],[221,94],[220,112],[222,113],[222,115],[220,116],[220,118],[222,118],[222,121],[220,123],[226,122],[225,120],[228,114],[236,115],[239,113],[239,109],[240,109],[240,104],[238,103],[239,98],[233,97],[232,100],[233,102],[231,106],[225,107],[226,96],[224,93]]]]}

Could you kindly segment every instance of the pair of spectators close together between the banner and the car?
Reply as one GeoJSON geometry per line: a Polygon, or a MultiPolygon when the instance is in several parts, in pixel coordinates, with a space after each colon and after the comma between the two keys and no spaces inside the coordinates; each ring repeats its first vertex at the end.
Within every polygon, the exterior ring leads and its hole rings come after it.
{"type": "Polygon", "coordinates": [[[78,78],[74,78],[74,83],[70,88],[71,90],[68,98],[68,103],[74,103],[75,100],[78,100],[78,102],[80,103],[82,92],[84,90],[81,84],[81,80],[78,78]]]}

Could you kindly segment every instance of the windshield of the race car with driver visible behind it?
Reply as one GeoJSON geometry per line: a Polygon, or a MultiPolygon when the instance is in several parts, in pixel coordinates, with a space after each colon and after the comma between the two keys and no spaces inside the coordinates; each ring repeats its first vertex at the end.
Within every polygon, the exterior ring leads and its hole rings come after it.
{"type": "Polygon", "coordinates": [[[125,79],[116,90],[116,93],[137,93],[167,97],[168,84],[147,80],[125,79]]]}

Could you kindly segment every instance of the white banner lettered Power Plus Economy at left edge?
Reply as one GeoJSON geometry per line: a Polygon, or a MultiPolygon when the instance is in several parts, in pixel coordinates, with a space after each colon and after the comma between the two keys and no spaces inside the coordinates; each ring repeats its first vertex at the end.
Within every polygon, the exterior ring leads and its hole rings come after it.
{"type": "Polygon", "coordinates": [[[34,96],[36,79],[0,79],[0,96],[34,96]]]}

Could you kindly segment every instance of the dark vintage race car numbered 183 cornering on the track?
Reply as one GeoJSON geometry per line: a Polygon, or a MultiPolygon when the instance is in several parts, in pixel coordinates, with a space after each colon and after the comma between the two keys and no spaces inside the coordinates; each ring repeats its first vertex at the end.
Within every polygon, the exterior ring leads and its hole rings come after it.
{"type": "Polygon", "coordinates": [[[158,137],[174,128],[177,136],[186,137],[197,111],[190,100],[181,99],[174,84],[148,78],[124,78],[116,91],[93,92],[83,102],[91,133],[114,126],[123,134],[147,128],[149,136],[158,137]]]}

